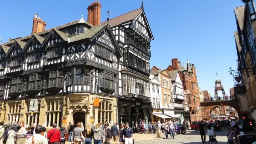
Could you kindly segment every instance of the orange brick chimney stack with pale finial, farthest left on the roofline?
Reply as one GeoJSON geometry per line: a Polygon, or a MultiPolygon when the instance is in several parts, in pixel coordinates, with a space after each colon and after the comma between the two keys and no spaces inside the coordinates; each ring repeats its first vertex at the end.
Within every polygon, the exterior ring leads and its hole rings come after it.
{"type": "Polygon", "coordinates": [[[32,33],[36,34],[38,32],[44,32],[46,27],[46,22],[42,20],[40,17],[38,17],[38,14],[35,14],[35,17],[33,18],[33,27],[32,27],[32,33]]]}

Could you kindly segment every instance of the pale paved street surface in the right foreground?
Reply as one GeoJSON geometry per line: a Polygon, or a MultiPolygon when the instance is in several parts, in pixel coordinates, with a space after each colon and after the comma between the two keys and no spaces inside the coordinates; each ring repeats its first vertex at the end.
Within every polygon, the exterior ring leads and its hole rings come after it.
{"type": "MultiPolygon", "coordinates": [[[[218,144],[227,144],[227,137],[224,136],[227,132],[226,129],[222,129],[221,132],[216,132],[216,138],[218,144]]],[[[136,135],[140,137],[139,135],[136,135]]],[[[165,135],[161,134],[161,137],[165,137],[165,135]]],[[[208,135],[206,135],[206,141],[208,141],[208,135]]],[[[202,144],[201,136],[199,135],[199,130],[188,130],[187,133],[178,134],[175,136],[175,139],[158,139],[151,140],[145,142],[137,142],[136,144],[202,144]]]]}

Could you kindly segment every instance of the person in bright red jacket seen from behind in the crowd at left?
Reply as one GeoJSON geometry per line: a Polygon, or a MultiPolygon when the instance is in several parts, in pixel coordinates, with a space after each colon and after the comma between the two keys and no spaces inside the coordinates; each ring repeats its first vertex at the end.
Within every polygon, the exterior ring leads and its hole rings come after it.
{"type": "Polygon", "coordinates": [[[61,133],[56,129],[57,124],[52,124],[52,129],[49,130],[47,138],[49,139],[49,144],[58,144],[61,141],[61,133]]]}

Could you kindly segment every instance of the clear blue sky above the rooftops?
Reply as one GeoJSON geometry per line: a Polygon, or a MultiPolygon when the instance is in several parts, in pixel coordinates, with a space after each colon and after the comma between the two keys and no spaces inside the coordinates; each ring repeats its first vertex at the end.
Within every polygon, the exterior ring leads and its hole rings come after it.
{"type": "MultiPolygon", "coordinates": [[[[24,37],[32,31],[35,13],[47,22],[46,29],[81,18],[87,20],[87,6],[94,0],[1,0],[0,37],[24,37]]],[[[141,0],[100,0],[101,21],[140,8],[141,0]]],[[[215,72],[226,93],[233,86],[229,67],[236,69],[237,56],[233,32],[236,29],[234,7],[241,0],[144,0],[144,9],[154,39],[151,42],[150,67],[161,69],[178,58],[194,63],[198,85],[214,94],[215,72]]]]}

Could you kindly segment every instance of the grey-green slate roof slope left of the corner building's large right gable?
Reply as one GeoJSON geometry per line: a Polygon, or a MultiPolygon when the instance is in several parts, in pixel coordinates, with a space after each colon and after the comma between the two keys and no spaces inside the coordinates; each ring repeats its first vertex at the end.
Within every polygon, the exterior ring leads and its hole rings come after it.
{"type": "Polygon", "coordinates": [[[84,32],[80,35],[70,37],[70,42],[78,41],[78,40],[82,40],[82,39],[86,39],[86,38],[91,38],[107,25],[108,25],[108,23],[103,23],[98,26],[93,26],[92,28],[88,29],[86,32],[84,32]]]}

